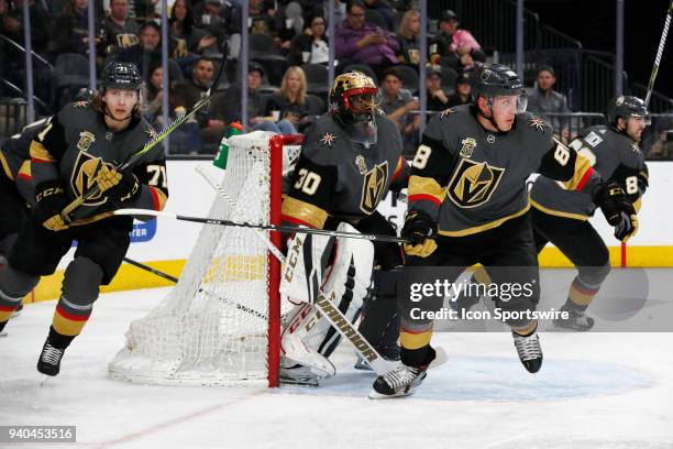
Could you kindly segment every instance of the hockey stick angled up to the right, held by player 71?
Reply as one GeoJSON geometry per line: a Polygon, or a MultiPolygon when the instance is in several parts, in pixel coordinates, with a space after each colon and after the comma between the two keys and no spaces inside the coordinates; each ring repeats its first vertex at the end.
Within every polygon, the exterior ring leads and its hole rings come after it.
{"type": "MultiPolygon", "coordinates": [[[[118,171],[118,172],[123,172],[124,169],[129,168],[139,158],[141,158],[145,153],[147,153],[150,150],[152,150],[154,146],[156,146],[157,143],[159,143],[164,139],[166,139],[166,136],[168,136],[168,134],[170,134],[173,131],[175,131],[180,124],[185,123],[190,117],[192,117],[201,108],[203,108],[210,101],[210,98],[212,97],[212,88],[218,86],[218,84],[220,83],[220,78],[222,77],[222,73],[224,72],[225,62],[227,62],[227,58],[224,58],[222,61],[222,65],[220,65],[220,69],[218,70],[218,75],[216,76],[216,78],[214,78],[212,85],[210,86],[210,88],[206,91],[206,97],[203,97],[199,102],[194,105],[194,107],[189,111],[186,111],[184,114],[181,114],[180,117],[175,119],[173,122],[168,123],[168,125],[165,127],[158,134],[156,134],[154,136],[154,139],[152,139],[150,142],[147,142],[145,144],[145,146],[143,146],[141,150],[136,151],[135,153],[131,154],[126,158],[125,162],[115,165],[114,169],[118,171]]],[[[75,198],[73,200],[73,202],[67,205],[60,211],[60,218],[63,219],[63,221],[65,221],[66,223],[70,223],[71,222],[70,213],[75,209],[77,209],[79,206],[85,204],[87,200],[89,200],[92,197],[95,197],[96,195],[98,195],[99,193],[100,193],[100,188],[98,187],[98,184],[96,184],[86,194],[82,193],[81,196],[75,198]]]]}

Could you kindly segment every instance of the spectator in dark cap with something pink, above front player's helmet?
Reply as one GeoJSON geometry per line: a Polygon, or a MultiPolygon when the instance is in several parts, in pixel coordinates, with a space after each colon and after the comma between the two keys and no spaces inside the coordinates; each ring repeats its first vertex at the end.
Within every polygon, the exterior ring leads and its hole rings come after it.
{"type": "Polygon", "coordinates": [[[456,72],[471,69],[475,63],[486,62],[486,54],[472,33],[459,30],[457,14],[452,10],[442,12],[440,33],[430,44],[430,61],[456,72]]]}

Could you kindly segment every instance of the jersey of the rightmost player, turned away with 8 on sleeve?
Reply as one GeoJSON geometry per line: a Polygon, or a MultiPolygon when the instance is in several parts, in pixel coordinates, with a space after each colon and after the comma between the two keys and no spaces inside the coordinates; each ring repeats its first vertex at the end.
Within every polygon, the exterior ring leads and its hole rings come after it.
{"type": "MultiPolygon", "coordinates": [[[[618,183],[637,209],[648,187],[648,166],[638,143],[607,125],[589,127],[570,143],[604,179],[618,183]]],[[[531,205],[549,215],[587,220],[596,206],[588,195],[563,189],[554,179],[540,176],[530,190],[531,205]]]]}

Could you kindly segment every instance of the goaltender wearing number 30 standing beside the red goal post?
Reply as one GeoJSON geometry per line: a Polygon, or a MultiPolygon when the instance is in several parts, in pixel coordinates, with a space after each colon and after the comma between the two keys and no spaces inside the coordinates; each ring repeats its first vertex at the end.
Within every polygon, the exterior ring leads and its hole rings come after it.
{"type": "MultiPolygon", "coordinates": [[[[345,73],[334,79],[330,111],[320,117],[306,134],[294,182],[283,201],[284,221],[332,230],[341,222],[350,223],[365,233],[397,234],[393,226],[376,211],[376,207],[388,190],[399,191],[406,187],[409,167],[401,156],[402,143],[395,123],[374,102],[377,90],[374,81],[358,72],[345,73]]],[[[371,245],[365,241],[356,242],[371,245]]],[[[365,258],[363,253],[366,253],[366,249],[353,256],[365,258]]],[[[364,302],[358,330],[383,357],[397,359],[399,327],[396,287],[398,270],[402,264],[399,245],[374,242],[374,288],[364,302]]],[[[350,267],[349,263],[344,270],[351,270],[350,276],[353,275],[354,267],[350,267]]],[[[362,281],[369,284],[368,273],[362,281]]],[[[353,283],[351,280],[351,287],[353,283]]],[[[362,298],[353,298],[351,288],[350,293],[336,300],[345,311],[349,303],[352,306],[362,298]]],[[[294,321],[307,314],[307,307],[310,306],[297,308],[295,317],[290,317],[289,329],[299,326],[294,321]]],[[[355,314],[346,313],[346,317],[354,319],[355,314]]],[[[334,331],[331,330],[324,338],[320,337],[313,349],[328,357],[335,343],[334,331]]],[[[295,372],[302,371],[300,368],[286,366],[282,369],[282,374],[286,380],[291,380],[296,377],[295,372]]]]}

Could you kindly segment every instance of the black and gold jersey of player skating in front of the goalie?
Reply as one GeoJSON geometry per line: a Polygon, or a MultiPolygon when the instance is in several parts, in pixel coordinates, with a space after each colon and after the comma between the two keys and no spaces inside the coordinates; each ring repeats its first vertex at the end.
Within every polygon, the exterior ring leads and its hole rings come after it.
{"type": "Polygon", "coordinates": [[[462,237],[496,228],[530,208],[532,173],[591,194],[600,184],[588,160],[552,138],[539,117],[516,116],[509,132],[492,132],[474,106],[448,109],[430,120],[411,164],[409,210],[421,210],[439,232],[462,237]]]}

